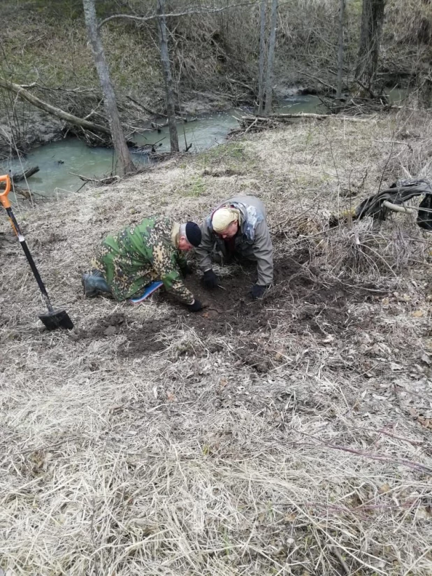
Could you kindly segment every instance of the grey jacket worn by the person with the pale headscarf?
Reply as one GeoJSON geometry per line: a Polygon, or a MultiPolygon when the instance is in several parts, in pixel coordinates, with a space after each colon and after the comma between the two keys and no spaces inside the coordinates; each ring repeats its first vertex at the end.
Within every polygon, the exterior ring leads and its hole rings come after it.
{"type": "MultiPolygon", "coordinates": [[[[273,245],[266,223],[266,208],[255,196],[234,196],[224,200],[215,208],[232,206],[241,213],[240,231],[235,238],[235,252],[240,257],[257,261],[257,284],[266,286],[273,282],[273,245]]],[[[216,248],[222,254],[226,249],[224,240],[213,231],[213,212],[206,217],[201,226],[202,240],[196,248],[196,260],[199,268],[206,272],[212,268],[211,254],[216,248]]]]}

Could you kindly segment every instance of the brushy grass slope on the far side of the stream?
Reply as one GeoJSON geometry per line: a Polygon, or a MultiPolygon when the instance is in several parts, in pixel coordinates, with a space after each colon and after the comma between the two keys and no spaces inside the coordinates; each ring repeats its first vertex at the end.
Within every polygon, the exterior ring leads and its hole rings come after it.
{"type": "MultiPolygon", "coordinates": [[[[209,8],[207,3],[205,6],[209,8]]],[[[214,9],[221,6],[225,5],[214,1],[214,9]]],[[[187,2],[174,2],[172,8],[180,12],[191,9],[187,2]]],[[[319,91],[336,85],[338,9],[334,0],[281,3],[275,80],[282,92],[298,84],[319,91]]],[[[152,14],[152,6],[143,7],[138,0],[106,0],[97,3],[97,10],[101,20],[118,13],[152,14]]],[[[99,91],[80,0],[5,0],[2,15],[1,75],[24,85],[36,82],[41,97],[72,108],[74,100],[64,89],[99,91]]],[[[344,77],[348,83],[356,65],[360,20],[361,0],[347,3],[344,77]]],[[[213,108],[226,106],[227,98],[237,103],[250,101],[257,91],[258,23],[258,4],[168,19],[178,106],[192,104],[193,108],[200,100],[202,106],[206,99],[213,108]]],[[[387,85],[387,78],[389,87],[394,87],[398,82],[415,84],[419,74],[426,78],[430,29],[431,8],[424,1],[387,3],[378,83],[387,85]]],[[[101,28],[101,35],[117,93],[131,94],[147,106],[163,110],[154,21],[112,20],[101,28]]],[[[75,92],[74,96],[75,106],[82,106],[82,111],[89,108],[89,113],[92,103],[85,101],[85,94],[75,92]]],[[[0,100],[0,110],[3,105],[0,100]]]]}

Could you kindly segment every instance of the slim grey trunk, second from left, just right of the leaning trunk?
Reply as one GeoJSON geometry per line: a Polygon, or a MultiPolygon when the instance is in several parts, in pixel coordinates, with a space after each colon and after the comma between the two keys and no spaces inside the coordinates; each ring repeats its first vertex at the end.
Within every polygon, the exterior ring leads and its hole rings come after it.
{"type": "Polygon", "coordinates": [[[175,106],[173,91],[173,76],[171,75],[171,64],[168,54],[168,41],[166,34],[166,17],[165,17],[165,0],[157,0],[157,29],[159,32],[159,48],[161,50],[162,69],[165,80],[165,100],[166,115],[168,116],[169,139],[171,143],[171,152],[178,152],[178,134],[175,125],[175,106]]]}

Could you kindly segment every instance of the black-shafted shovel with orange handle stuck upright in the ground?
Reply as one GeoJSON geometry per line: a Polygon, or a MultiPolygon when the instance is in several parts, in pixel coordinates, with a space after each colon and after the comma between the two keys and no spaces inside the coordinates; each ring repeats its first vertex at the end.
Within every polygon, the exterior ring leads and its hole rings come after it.
{"type": "Polygon", "coordinates": [[[12,224],[13,231],[20,240],[20,244],[22,246],[22,250],[24,250],[24,254],[26,255],[27,260],[29,261],[31,271],[34,273],[34,278],[36,278],[36,282],[38,282],[38,287],[42,292],[43,301],[48,308],[48,312],[45,314],[38,315],[39,318],[42,320],[43,324],[45,324],[48,330],[55,330],[56,328],[65,328],[65,329],[72,329],[73,322],[67,315],[66,310],[54,310],[50,303],[50,298],[48,297],[47,291],[45,286],[43,285],[42,278],[38,273],[38,269],[36,268],[36,264],[34,264],[34,259],[31,257],[29,247],[25,241],[24,236],[20,231],[20,226],[13,215],[12,208],[10,207],[10,202],[8,200],[8,194],[10,192],[10,178],[6,174],[5,176],[0,176],[0,182],[6,182],[6,189],[3,192],[0,192],[0,203],[3,205],[3,208],[6,209],[8,213],[8,217],[10,218],[10,223],[12,224]]]}

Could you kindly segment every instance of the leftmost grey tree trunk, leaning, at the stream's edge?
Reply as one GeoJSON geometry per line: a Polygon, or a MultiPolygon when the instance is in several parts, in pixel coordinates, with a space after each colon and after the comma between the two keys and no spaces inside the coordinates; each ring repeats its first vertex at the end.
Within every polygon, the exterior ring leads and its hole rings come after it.
{"type": "Polygon", "coordinates": [[[120,123],[114,89],[113,85],[111,84],[105,52],[103,52],[103,45],[97,27],[94,0],[82,0],[82,6],[84,7],[85,24],[87,27],[89,42],[92,45],[94,64],[96,64],[96,71],[99,75],[99,82],[101,82],[103,105],[105,107],[106,115],[108,116],[108,122],[110,124],[111,138],[113,138],[114,150],[117,152],[120,173],[122,175],[132,173],[136,171],[136,168],[132,162],[131,153],[127,147],[122,124],[120,123]]]}

